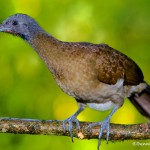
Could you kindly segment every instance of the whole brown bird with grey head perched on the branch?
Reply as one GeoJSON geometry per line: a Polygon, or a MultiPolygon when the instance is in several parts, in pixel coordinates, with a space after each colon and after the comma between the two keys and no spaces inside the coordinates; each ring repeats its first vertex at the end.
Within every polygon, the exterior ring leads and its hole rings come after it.
{"type": "Polygon", "coordinates": [[[0,24],[0,32],[21,37],[37,52],[63,92],[78,103],[78,110],[62,122],[73,140],[73,123],[80,130],[77,119],[86,107],[111,113],[99,125],[98,149],[106,130],[109,141],[110,119],[124,104],[125,98],[150,118],[150,86],[144,81],[140,67],[128,56],[107,44],[65,42],[47,33],[29,15],[17,13],[0,24]],[[67,126],[68,124],[68,126],[67,126]]]}

